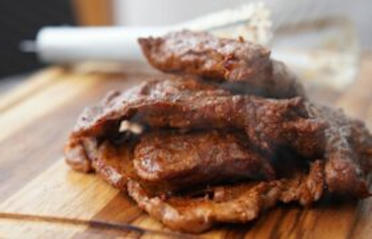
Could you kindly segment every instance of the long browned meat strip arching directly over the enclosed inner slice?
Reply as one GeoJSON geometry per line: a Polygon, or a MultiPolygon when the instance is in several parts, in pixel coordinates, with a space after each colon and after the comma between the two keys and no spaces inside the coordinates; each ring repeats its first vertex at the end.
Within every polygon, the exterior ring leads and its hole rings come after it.
{"type": "Polygon", "coordinates": [[[153,128],[235,128],[244,130],[250,142],[262,149],[290,144],[306,156],[319,153],[323,144],[324,124],[307,115],[301,98],[265,99],[223,90],[147,93],[112,93],[115,97],[110,95],[81,115],[73,137],[115,133],[122,120],[134,120],[153,128]]]}

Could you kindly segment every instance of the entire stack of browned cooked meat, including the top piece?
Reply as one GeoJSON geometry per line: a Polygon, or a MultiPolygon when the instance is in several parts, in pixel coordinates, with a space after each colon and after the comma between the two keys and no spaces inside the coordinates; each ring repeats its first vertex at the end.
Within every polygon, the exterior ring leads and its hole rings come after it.
{"type": "Polygon", "coordinates": [[[253,220],[278,202],[370,195],[364,124],[309,102],[266,48],[190,31],[139,43],[171,74],[87,108],[65,147],[72,168],[191,233],[253,220]]]}

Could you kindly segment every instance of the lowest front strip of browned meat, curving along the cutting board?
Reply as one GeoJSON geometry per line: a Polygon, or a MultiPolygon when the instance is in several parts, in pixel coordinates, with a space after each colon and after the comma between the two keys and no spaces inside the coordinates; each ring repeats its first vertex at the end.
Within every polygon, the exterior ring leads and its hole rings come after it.
{"type": "Polygon", "coordinates": [[[278,201],[309,205],[323,193],[323,165],[312,163],[308,175],[270,182],[247,182],[206,189],[199,195],[168,198],[149,195],[136,181],[128,182],[128,194],[138,206],[171,229],[200,233],[218,222],[244,223],[278,201]]]}

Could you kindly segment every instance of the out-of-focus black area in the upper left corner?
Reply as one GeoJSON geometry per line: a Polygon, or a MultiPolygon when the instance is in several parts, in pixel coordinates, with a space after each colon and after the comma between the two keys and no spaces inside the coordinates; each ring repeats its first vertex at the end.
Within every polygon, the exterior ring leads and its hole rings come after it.
{"type": "Polygon", "coordinates": [[[39,68],[32,53],[19,44],[35,39],[42,26],[75,25],[69,0],[0,0],[0,79],[39,68]]]}

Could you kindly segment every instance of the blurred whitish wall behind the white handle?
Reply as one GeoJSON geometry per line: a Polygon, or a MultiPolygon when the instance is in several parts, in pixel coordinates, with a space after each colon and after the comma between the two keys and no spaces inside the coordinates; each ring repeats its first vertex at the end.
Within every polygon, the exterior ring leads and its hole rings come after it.
{"type": "MultiPolygon", "coordinates": [[[[249,0],[115,0],[118,25],[165,25],[249,0]]],[[[262,0],[274,25],[317,16],[346,15],[356,24],[363,47],[372,49],[372,0],[262,0]]]]}

